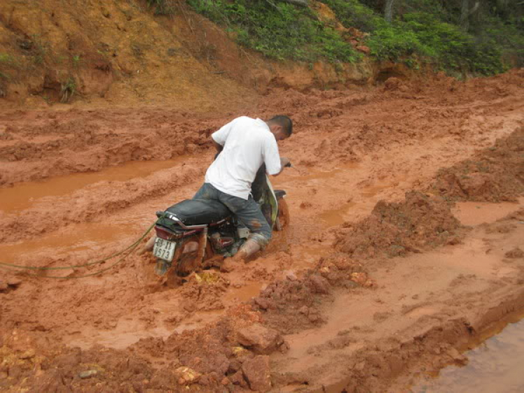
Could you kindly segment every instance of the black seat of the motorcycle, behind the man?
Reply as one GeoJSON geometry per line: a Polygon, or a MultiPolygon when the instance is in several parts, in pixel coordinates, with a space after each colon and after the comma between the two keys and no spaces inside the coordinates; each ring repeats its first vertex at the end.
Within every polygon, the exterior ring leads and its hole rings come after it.
{"type": "Polygon", "coordinates": [[[210,199],[186,199],[166,211],[173,213],[184,225],[211,224],[231,215],[223,203],[210,199]]]}

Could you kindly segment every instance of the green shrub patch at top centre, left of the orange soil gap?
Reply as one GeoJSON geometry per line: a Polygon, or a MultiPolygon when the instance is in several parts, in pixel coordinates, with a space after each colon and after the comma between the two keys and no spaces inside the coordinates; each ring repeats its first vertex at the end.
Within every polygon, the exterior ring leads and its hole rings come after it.
{"type": "Polygon", "coordinates": [[[310,8],[267,0],[188,0],[231,31],[238,43],[272,59],[355,62],[358,54],[310,8]]]}

